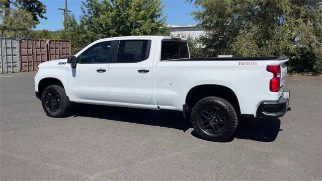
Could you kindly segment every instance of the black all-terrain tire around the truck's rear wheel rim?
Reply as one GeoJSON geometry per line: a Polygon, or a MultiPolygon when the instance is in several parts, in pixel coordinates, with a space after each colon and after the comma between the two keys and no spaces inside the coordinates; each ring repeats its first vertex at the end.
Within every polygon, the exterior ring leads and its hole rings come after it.
{"type": "Polygon", "coordinates": [[[228,101],[218,97],[207,97],[200,100],[192,109],[191,123],[195,132],[201,138],[209,141],[225,141],[234,133],[237,127],[238,118],[235,109],[228,101]],[[222,130],[218,131],[218,133],[207,131],[202,128],[203,121],[200,115],[202,110],[207,107],[218,109],[221,111],[222,117],[225,117],[225,123],[222,126],[222,130]]]}

